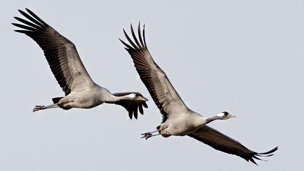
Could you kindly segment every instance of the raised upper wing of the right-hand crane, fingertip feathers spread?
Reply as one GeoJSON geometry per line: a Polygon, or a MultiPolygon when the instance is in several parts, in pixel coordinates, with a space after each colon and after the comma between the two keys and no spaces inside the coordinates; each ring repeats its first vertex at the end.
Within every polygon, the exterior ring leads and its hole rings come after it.
{"type": "Polygon", "coordinates": [[[178,93],[173,88],[164,71],[160,69],[159,66],[152,59],[146,45],[145,26],[143,29],[143,42],[140,33],[140,23],[138,24],[138,36],[140,40],[139,43],[131,25],[131,33],[136,45],[126,34],[126,31],[123,31],[127,40],[133,47],[126,44],[124,41],[120,39],[119,40],[127,47],[125,49],[131,55],[131,58],[133,59],[134,66],[140,76],[140,79],[145,84],[155,104],[159,108],[160,112],[163,114],[162,123],[164,123],[168,117],[173,118],[174,115],[176,116],[188,111],[188,107],[179,97],[178,93]]]}

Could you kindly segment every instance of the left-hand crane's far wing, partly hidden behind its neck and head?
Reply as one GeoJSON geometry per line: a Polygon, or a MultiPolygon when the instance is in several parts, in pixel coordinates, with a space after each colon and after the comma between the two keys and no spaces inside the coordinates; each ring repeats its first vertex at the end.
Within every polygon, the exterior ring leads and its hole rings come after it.
{"type": "MultiPolygon", "coordinates": [[[[138,92],[123,92],[123,93],[112,93],[114,96],[121,97],[121,96],[126,96],[129,94],[138,94],[141,97],[144,97],[138,92]]],[[[145,97],[144,97],[145,98],[145,97]]],[[[140,114],[144,114],[143,106],[145,108],[148,108],[148,105],[146,102],[138,102],[135,100],[120,100],[117,102],[106,102],[106,103],[111,103],[111,104],[116,104],[124,107],[128,112],[129,112],[129,117],[132,119],[132,115],[134,114],[135,119],[137,119],[137,110],[139,110],[140,114]]]]}

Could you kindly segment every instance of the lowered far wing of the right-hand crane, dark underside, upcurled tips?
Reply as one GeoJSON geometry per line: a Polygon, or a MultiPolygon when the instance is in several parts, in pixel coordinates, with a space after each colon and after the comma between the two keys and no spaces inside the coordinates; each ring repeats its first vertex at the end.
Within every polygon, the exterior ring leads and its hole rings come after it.
{"type": "Polygon", "coordinates": [[[273,154],[270,154],[270,153],[273,153],[274,151],[278,150],[278,147],[276,147],[265,153],[257,153],[257,152],[251,151],[248,148],[246,148],[244,145],[242,145],[240,142],[230,138],[229,136],[227,136],[225,134],[222,134],[221,132],[219,132],[207,125],[204,125],[197,131],[195,131],[191,134],[188,134],[188,136],[190,136],[194,139],[197,139],[197,140],[201,141],[202,143],[205,143],[216,150],[220,150],[220,151],[223,151],[228,154],[234,154],[234,155],[240,156],[241,158],[243,158],[247,161],[250,160],[254,164],[256,164],[254,159],[261,160],[256,156],[263,156],[260,154],[269,154],[269,155],[266,155],[263,157],[272,156],[273,154]]]}

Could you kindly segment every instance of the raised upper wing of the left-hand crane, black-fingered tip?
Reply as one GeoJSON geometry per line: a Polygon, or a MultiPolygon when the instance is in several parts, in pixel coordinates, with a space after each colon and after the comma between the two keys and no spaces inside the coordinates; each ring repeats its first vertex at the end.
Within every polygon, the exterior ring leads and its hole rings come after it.
{"type": "Polygon", "coordinates": [[[26,9],[26,11],[30,13],[32,17],[19,10],[24,17],[32,22],[14,17],[18,21],[26,24],[12,23],[14,26],[26,29],[14,31],[30,36],[41,47],[65,95],[68,95],[70,92],[81,92],[90,85],[93,85],[94,83],[84,68],[75,45],[64,36],[61,36],[55,29],[42,21],[29,9],[26,9]]]}

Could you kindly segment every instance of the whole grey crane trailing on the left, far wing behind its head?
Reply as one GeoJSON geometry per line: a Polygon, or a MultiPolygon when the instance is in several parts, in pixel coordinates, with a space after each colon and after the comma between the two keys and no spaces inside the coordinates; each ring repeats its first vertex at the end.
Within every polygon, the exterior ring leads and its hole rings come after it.
{"type": "Polygon", "coordinates": [[[102,103],[113,103],[125,107],[131,119],[133,114],[137,119],[137,110],[143,114],[142,106],[147,107],[145,97],[138,92],[110,93],[106,88],[94,83],[85,69],[75,45],[42,21],[36,14],[28,9],[26,11],[31,16],[19,10],[31,22],[15,17],[18,21],[26,24],[12,23],[26,29],[15,31],[24,33],[37,42],[44,51],[50,69],[65,93],[65,97],[53,98],[54,104],[36,106],[33,112],[54,107],[69,110],[71,108],[92,108],[102,103]]]}

